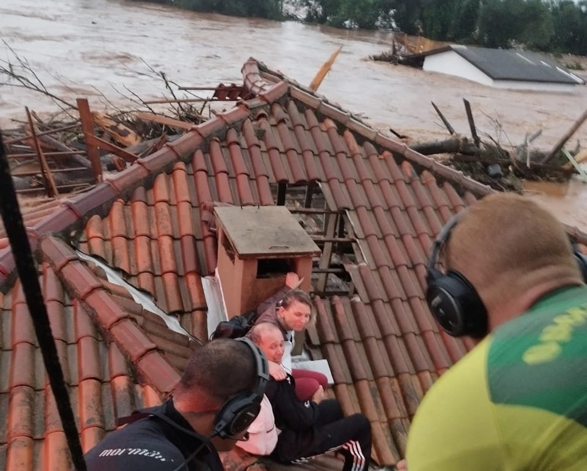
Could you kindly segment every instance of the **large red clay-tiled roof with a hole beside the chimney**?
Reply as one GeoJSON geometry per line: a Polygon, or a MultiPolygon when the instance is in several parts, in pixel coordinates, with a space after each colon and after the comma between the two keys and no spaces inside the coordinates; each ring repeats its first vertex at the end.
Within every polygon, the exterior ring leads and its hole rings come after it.
{"type": "MultiPolygon", "coordinates": [[[[242,72],[254,98],[52,206],[29,228],[83,449],[113,430],[117,418],[173,391],[195,345],[76,250],[115,268],[205,341],[202,278],[217,264],[210,204],[272,205],[276,184],[311,184],[326,209],[345,220],[345,237],[356,248],[355,260],[345,263],[355,291],[314,298],[318,322],[306,346],[313,358],[328,359],[335,380],[329,394],[346,413],[369,418],[377,463],[392,465],[404,454],[424,393],[472,347],[431,318],[427,253],[454,213],[492,190],[254,59],[242,72]]],[[[15,277],[11,250],[3,248],[0,365],[8,374],[0,375],[0,416],[8,419],[0,429],[0,469],[68,469],[65,435],[15,277]]],[[[239,455],[228,468],[254,462],[239,455]]]]}

